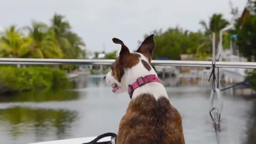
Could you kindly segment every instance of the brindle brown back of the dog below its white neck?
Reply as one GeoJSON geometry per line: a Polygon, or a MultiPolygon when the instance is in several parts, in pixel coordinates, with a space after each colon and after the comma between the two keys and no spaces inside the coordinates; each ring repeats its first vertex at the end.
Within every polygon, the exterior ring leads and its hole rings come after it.
{"type": "Polygon", "coordinates": [[[167,98],[140,95],[130,102],[120,122],[117,143],[183,144],[181,116],[167,98]]]}

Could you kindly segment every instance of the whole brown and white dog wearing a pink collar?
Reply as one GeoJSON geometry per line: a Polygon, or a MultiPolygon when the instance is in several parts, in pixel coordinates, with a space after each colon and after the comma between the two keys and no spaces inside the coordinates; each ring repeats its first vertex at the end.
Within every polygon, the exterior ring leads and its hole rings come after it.
{"type": "Polygon", "coordinates": [[[119,123],[117,143],[185,143],[182,118],[150,65],[154,35],[148,36],[136,52],[130,52],[118,38],[113,42],[121,45],[121,51],[105,80],[114,93],[128,92],[131,98],[119,123]]]}

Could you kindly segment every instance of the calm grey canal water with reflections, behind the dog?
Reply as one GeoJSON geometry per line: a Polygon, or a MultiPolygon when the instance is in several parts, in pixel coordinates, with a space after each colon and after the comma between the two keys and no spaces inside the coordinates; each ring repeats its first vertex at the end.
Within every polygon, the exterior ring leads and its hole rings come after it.
{"type": "MultiPolygon", "coordinates": [[[[216,143],[208,115],[210,86],[166,86],[183,118],[186,143],[216,143]]],[[[117,132],[130,101],[101,78],[85,88],[1,95],[0,143],[29,143],[117,132]]],[[[256,143],[256,102],[223,95],[221,143],[256,143]]]]}

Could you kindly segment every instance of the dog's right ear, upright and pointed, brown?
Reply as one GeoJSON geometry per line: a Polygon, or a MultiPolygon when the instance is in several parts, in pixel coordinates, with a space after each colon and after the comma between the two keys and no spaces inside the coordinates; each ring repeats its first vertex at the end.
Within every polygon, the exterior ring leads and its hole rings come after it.
{"type": "Polygon", "coordinates": [[[137,52],[145,55],[145,57],[148,58],[148,61],[150,62],[152,59],[152,53],[155,49],[155,42],[154,42],[154,34],[148,36],[140,45],[137,52]]]}

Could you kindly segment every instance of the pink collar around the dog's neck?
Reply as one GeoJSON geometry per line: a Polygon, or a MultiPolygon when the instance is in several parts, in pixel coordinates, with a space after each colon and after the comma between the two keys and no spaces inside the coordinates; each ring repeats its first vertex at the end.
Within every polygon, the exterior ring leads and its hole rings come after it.
{"type": "Polygon", "coordinates": [[[128,92],[129,92],[130,98],[132,99],[132,94],[134,90],[136,90],[138,87],[141,87],[142,85],[145,85],[151,82],[161,83],[161,80],[156,75],[146,75],[145,77],[137,78],[136,82],[134,82],[132,85],[129,84],[128,92]]]}

